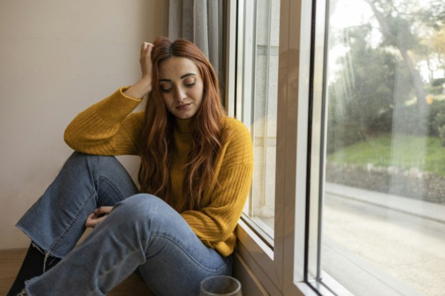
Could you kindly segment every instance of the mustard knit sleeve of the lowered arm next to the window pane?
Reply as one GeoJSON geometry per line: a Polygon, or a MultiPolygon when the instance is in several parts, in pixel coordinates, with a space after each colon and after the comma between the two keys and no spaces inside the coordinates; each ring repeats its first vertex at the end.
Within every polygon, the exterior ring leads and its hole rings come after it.
{"type": "Polygon", "coordinates": [[[253,148],[250,133],[241,122],[234,124],[231,136],[223,147],[218,183],[209,204],[199,211],[182,212],[201,241],[223,256],[234,251],[234,230],[243,212],[253,175],[253,148]]]}

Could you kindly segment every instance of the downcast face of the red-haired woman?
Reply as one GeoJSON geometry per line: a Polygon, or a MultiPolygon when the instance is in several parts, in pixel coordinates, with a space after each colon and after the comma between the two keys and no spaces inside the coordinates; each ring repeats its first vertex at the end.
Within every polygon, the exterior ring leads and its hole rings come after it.
{"type": "Polygon", "coordinates": [[[204,83],[197,65],[187,57],[170,57],[159,65],[160,92],[168,111],[189,119],[202,103],[204,83]]]}

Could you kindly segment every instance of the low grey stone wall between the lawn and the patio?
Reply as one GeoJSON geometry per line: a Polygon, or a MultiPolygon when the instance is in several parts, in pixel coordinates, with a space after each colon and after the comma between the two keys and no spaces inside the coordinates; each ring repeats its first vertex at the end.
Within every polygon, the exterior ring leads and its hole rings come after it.
{"type": "Polygon", "coordinates": [[[326,181],[445,204],[445,177],[425,173],[417,168],[399,170],[327,163],[326,181]]]}

